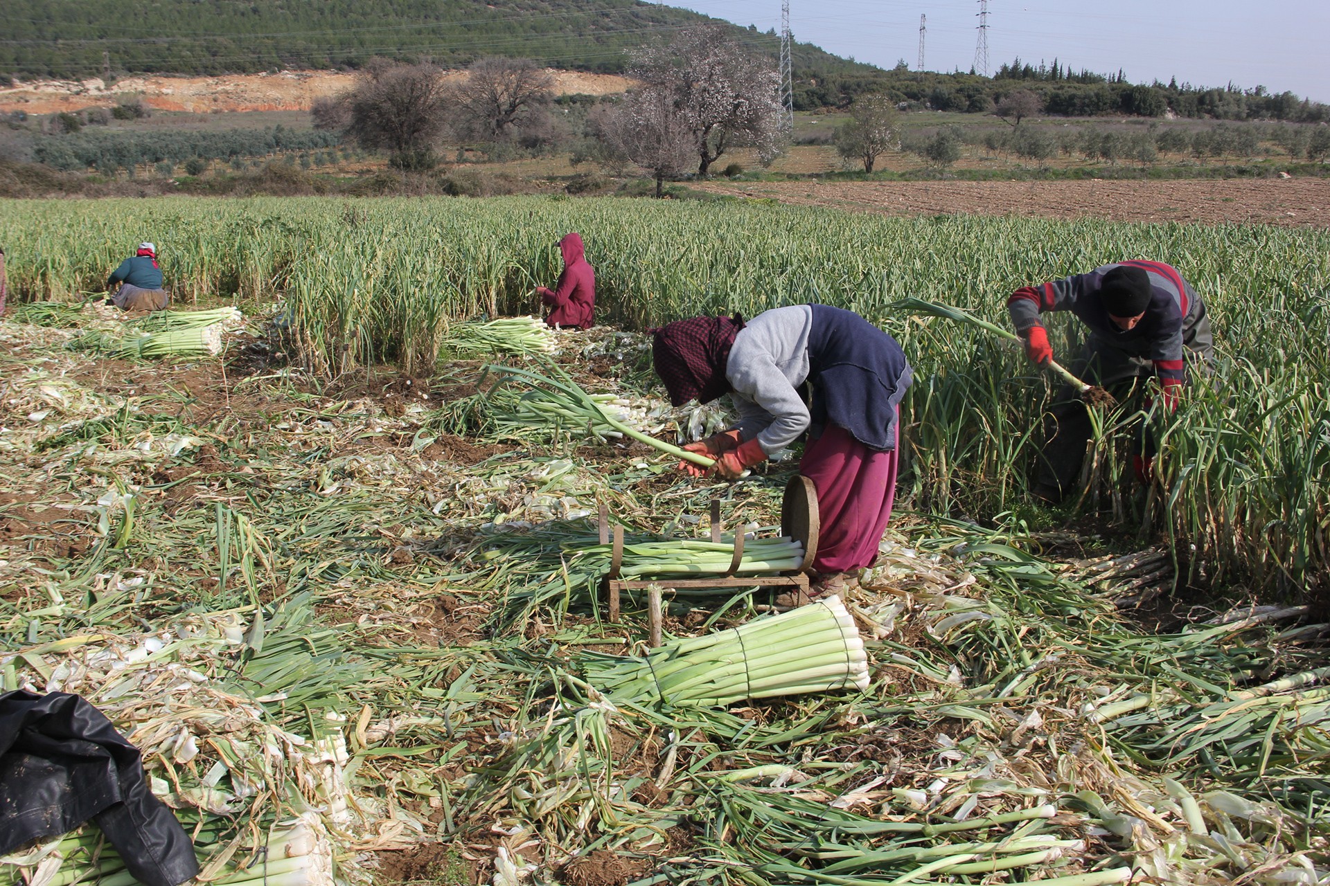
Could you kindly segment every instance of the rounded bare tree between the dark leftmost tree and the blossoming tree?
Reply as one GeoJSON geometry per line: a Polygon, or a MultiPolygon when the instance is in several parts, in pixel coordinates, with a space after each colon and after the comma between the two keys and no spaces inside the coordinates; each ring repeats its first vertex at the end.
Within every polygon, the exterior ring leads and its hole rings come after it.
{"type": "Polygon", "coordinates": [[[527,58],[480,58],[450,90],[458,129],[487,142],[507,142],[537,130],[548,117],[555,78],[527,58]]]}

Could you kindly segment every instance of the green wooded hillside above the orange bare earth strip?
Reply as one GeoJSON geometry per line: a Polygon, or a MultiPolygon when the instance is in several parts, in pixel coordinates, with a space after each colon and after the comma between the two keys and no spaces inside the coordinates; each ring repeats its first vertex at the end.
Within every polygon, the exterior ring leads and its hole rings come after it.
{"type": "MultiPolygon", "coordinates": [[[[718,21],[636,0],[11,0],[7,7],[0,76],[65,80],[354,68],[372,56],[456,68],[493,54],[620,73],[625,49],[718,21]]],[[[765,52],[779,49],[774,33],[730,27],[765,52]]],[[[810,44],[798,44],[794,64],[802,77],[880,73],[810,44]]]]}

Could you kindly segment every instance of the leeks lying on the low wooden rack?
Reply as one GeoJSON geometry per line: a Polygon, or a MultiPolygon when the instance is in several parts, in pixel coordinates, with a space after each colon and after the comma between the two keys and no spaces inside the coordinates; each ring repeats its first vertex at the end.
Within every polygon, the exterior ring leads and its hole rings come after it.
{"type": "MultiPolygon", "coordinates": [[[[610,545],[565,545],[571,554],[581,554],[592,561],[597,573],[609,569],[613,555],[610,545]]],[[[673,538],[660,542],[626,542],[618,567],[620,578],[653,578],[657,575],[721,575],[734,559],[734,538],[729,542],[710,542],[700,538],[673,538]]],[[[799,569],[803,563],[803,545],[787,535],[743,541],[742,558],[734,570],[741,574],[782,573],[799,569]]]]}

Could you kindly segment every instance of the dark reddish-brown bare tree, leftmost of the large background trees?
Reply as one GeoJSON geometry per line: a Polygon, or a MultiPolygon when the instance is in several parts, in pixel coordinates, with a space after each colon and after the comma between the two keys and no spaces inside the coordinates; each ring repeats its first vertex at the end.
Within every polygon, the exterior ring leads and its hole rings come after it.
{"type": "Polygon", "coordinates": [[[315,126],[340,129],[360,147],[387,150],[399,169],[432,169],[434,143],[444,126],[442,72],[371,58],[350,90],[315,102],[315,126]]]}

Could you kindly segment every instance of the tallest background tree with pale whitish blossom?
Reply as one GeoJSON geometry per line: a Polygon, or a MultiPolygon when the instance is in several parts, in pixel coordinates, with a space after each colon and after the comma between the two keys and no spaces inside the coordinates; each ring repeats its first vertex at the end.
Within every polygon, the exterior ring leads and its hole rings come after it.
{"type": "Polygon", "coordinates": [[[746,50],[718,25],[680,31],[673,40],[632,53],[630,73],[669,97],[693,133],[697,174],[730,147],[754,146],[774,157],[779,146],[779,74],[769,58],[746,50]]]}

